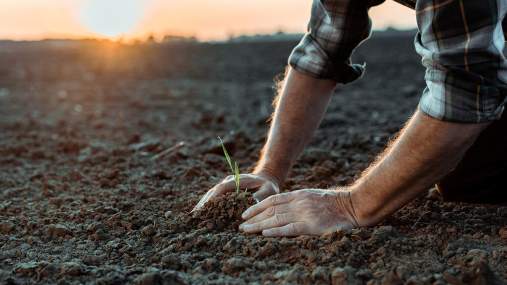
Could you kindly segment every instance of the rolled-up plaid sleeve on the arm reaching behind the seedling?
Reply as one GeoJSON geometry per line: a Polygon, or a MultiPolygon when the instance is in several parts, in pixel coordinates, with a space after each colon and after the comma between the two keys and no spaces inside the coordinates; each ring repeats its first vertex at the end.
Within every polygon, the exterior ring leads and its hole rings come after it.
{"type": "Polygon", "coordinates": [[[363,64],[352,63],[354,49],[371,34],[370,7],[384,0],[314,0],[308,32],[293,50],[288,63],[299,72],[352,82],[365,72],[363,64]]]}

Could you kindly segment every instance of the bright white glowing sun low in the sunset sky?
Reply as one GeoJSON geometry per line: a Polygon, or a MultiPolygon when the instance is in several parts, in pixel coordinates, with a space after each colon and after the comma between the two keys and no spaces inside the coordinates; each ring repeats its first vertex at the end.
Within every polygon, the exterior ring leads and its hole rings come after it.
{"type": "Polygon", "coordinates": [[[131,31],[142,16],[140,0],[90,0],[81,12],[85,26],[93,32],[117,37],[131,31]]]}

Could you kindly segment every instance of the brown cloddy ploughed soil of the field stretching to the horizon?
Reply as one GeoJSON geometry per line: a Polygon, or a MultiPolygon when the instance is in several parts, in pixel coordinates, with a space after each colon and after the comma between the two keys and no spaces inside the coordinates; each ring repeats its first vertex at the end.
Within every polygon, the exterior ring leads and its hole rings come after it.
{"type": "MultiPolygon", "coordinates": [[[[230,172],[216,136],[255,166],[296,44],[0,42],[0,283],[505,283],[505,206],[428,192],[297,238],[238,232],[249,198],[191,212],[230,172]]],[[[412,35],[376,33],[353,60],[365,77],[337,88],[285,191],[351,183],[417,107],[412,35]]]]}

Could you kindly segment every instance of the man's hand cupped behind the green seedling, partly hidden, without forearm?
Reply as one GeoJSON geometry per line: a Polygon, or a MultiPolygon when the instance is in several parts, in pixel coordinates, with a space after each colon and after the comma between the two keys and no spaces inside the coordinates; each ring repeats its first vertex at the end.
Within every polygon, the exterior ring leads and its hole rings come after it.
{"type": "MultiPolygon", "coordinates": [[[[280,193],[280,187],[278,185],[278,180],[274,176],[266,173],[239,174],[240,191],[248,189],[249,192],[255,192],[252,196],[257,202],[271,195],[280,193]]],[[[224,181],[211,188],[204,197],[202,197],[199,203],[197,203],[194,209],[202,208],[204,203],[209,201],[212,197],[217,197],[232,191],[236,191],[236,182],[234,181],[234,176],[229,175],[224,181]]]]}

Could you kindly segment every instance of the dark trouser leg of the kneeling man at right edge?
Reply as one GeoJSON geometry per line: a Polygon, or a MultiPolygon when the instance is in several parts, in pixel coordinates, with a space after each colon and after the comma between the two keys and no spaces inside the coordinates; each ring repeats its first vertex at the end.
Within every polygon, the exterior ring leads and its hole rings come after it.
{"type": "Polygon", "coordinates": [[[438,183],[446,201],[507,202],[507,111],[481,132],[461,162],[438,183]]]}

